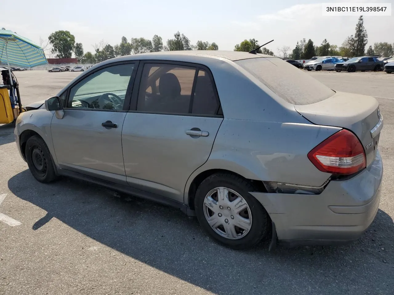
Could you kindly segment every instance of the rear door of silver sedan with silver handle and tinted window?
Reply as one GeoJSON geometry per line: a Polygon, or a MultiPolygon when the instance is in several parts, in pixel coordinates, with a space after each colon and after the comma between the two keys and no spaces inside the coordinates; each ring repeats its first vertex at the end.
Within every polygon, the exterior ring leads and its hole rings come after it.
{"type": "Polygon", "coordinates": [[[208,159],[223,121],[208,68],[141,62],[122,131],[126,180],[183,203],[186,181],[208,159]]]}

